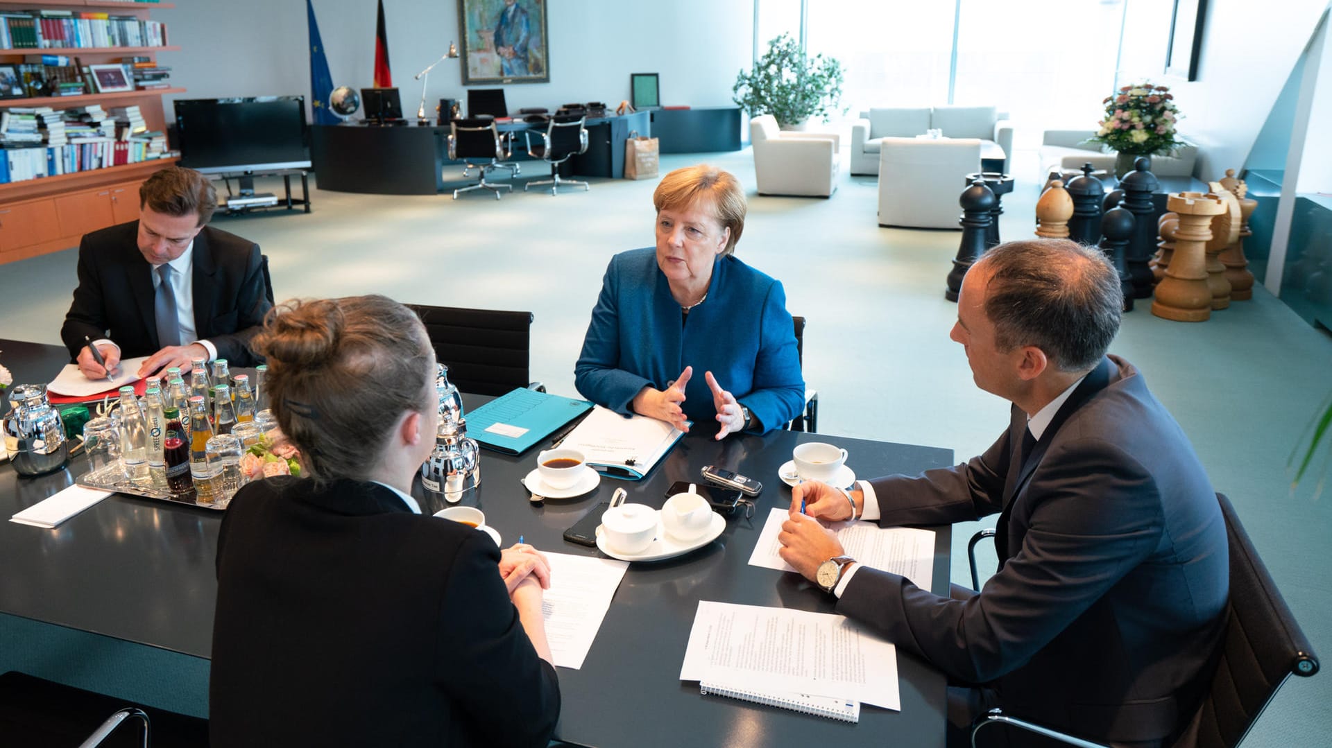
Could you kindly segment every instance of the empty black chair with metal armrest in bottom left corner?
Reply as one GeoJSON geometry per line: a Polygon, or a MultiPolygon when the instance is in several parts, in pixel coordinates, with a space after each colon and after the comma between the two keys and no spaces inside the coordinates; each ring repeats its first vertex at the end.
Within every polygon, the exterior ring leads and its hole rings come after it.
{"type": "Polygon", "coordinates": [[[205,748],[208,720],[9,671],[0,675],[0,745],[205,748]],[[141,731],[121,727],[136,720],[141,731]]]}

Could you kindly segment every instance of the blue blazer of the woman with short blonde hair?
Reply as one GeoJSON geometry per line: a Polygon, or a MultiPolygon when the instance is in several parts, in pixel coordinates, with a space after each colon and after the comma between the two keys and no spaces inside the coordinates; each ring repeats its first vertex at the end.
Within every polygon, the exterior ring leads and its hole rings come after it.
{"type": "Polygon", "coordinates": [[[707,299],[681,323],[679,303],[657,268],[657,250],[617,254],[591,311],[574,386],[585,398],[629,415],[643,386],[663,390],[685,366],[693,366],[694,375],[682,407],[694,423],[717,423],[705,371],[750,409],[763,431],[781,427],[805,406],[795,329],[781,282],[734,256],[719,256],[707,299]]]}

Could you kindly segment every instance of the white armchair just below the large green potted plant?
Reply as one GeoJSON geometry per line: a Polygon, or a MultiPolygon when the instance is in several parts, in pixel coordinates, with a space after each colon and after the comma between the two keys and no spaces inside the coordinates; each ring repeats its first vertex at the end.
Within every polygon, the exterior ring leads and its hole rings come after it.
{"type": "Polygon", "coordinates": [[[750,120],[759,194],[831,197],[842,138],[836,133],[782,132],[771,114],[750,120]]]}

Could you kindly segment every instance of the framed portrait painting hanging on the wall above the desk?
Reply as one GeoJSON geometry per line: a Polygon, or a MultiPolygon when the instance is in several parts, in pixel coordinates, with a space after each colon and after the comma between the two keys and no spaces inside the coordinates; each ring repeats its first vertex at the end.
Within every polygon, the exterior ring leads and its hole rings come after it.
{"type": "Polygon", "coordinates": [[[462,85],[550,83],[547,0],[460,0],[462,85]]]}

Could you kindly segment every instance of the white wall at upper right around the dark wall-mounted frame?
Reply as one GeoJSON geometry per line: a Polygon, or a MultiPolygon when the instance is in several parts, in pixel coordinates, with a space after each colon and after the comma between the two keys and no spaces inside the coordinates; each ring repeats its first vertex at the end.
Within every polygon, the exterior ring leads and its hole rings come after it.
{"type": "MultiPolygon", "coordinates": [[[[1187,117],[1180,133],[1200,148],[1196,176],[1217,180],[1225,169],[1244,164],[1295,61],[1328,7],[1328,0],[1208,0],[1197,80],[1168,79],[1164,69],[1164,33],[1143,29],[1162,0],[1130,0],[1126,19],[1126,59],[1120,71],[1150,75],[1175,93],[1187,117]],[[1130,37],[1147,33],[1162,39],[1152,52],[1130,55],[1130,37]]],[[[1168,3],[1167,3],[1168,4],[1168,3]]],[[[1168,27],[1166,29],[1168,32],[1168,27]]]]}

